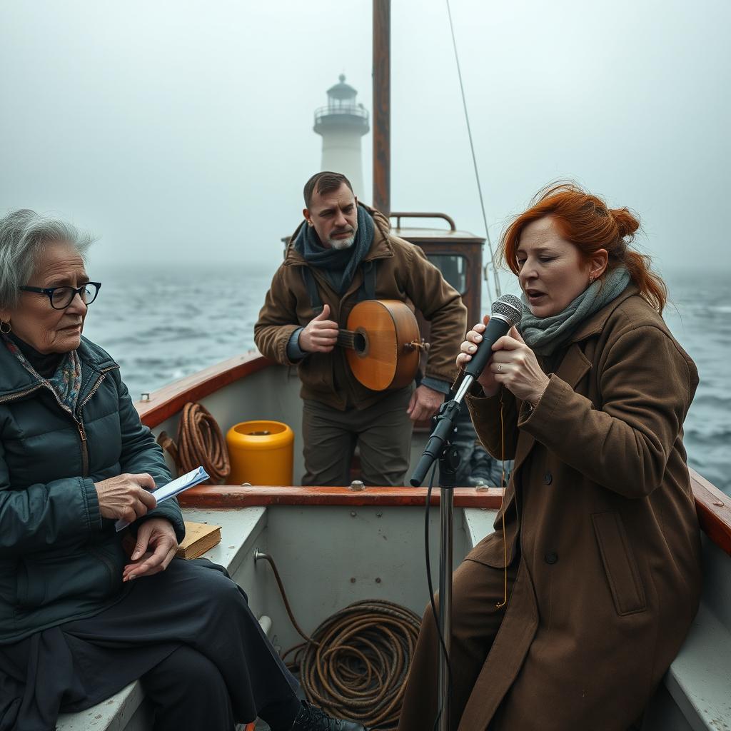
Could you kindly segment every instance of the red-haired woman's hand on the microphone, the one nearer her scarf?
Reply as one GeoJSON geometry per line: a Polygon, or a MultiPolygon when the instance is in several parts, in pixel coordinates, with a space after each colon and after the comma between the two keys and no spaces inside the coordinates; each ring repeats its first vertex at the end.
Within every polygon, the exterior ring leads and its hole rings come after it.
{"type": "Polygon", "coordinates": [[[535,406],[548,387],[550,378],[541,370],[536,354],[526,345],[515,327],[493,345],[493,357],[485,368],[510,392],[535,406]]]}

